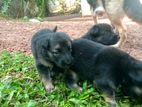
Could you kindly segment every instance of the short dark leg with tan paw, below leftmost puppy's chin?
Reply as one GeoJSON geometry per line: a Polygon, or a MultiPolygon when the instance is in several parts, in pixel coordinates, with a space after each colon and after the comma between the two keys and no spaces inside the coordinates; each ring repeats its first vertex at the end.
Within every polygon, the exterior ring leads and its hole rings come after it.
{"type": "Polygon", "coordinates": [[[71,70],[67,72],[65,75],[65,82],[69,88],[82,91],[82,88],[77,85],[78,76],[75,72],[71,70]]]}

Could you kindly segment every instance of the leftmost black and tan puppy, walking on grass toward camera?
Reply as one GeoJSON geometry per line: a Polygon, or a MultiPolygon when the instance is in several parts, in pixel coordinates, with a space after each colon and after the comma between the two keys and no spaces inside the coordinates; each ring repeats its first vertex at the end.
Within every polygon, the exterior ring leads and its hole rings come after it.
{"type": "Polygon", "coordinates": [[[42,29],[34,34],[31,41],[36,67],[47,91],[54,88],[51,76],[58,67],[67,69],[72,63],[71,39],[63,32],[56,32],[56,29],[42,29]]]}

